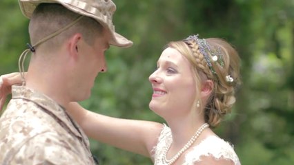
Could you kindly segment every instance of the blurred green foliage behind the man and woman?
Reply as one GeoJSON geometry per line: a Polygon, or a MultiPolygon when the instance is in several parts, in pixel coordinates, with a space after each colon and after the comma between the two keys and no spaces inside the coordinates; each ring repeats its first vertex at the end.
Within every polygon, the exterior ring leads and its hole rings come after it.
{"type": "MultiPolygon", "coordinates": [[[[215,129],[242,164],[294,164],[293,0],[114,0],[117,32],[135,44],[111,47],[84,107],[118,118],[163,122],[148,109],[148,76],[168,41],[190,34],[220,37],[242,58],[242,88],[233,113],[215,129]]],[[[0,1],[0,74],[18,72],[28,19],[17,1],[0,1]]],[[[91,140],[101,164],[152,164],[146,157],[91,140]]]]}

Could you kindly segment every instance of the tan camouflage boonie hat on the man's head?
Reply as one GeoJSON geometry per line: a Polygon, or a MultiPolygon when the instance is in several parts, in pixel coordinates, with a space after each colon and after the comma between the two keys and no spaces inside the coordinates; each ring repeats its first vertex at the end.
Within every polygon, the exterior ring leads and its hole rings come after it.
{"type": "Polygon", "coordinates": [[[115,32],[112,15],[116,6],[111,0],[19,0],[21,12],[30,19],[37,5],[40,3],[59,3],[72,12],[91,17],[98,21],[111,34],[110,45],[130,47],[133,42],[115,32]]]}

